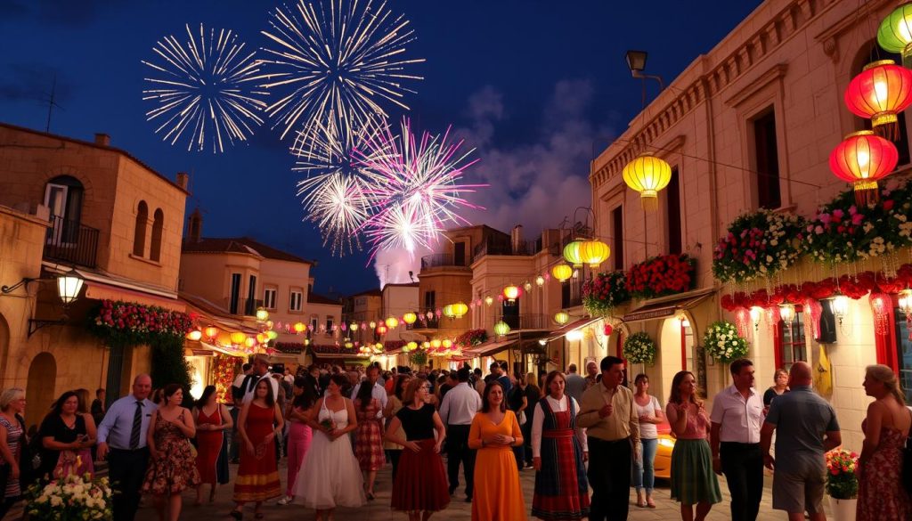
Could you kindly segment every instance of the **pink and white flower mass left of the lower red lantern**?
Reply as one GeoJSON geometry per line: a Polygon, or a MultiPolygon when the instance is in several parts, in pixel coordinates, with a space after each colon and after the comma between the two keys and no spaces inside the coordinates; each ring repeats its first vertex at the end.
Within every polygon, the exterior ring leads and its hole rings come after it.
{"type": "Polygon", "coordinates": [[[792,266],[803,254],[804,220],[761,209],[729,225],[712,254],[712,274],[722,282],[748,282],[792,266]]]}

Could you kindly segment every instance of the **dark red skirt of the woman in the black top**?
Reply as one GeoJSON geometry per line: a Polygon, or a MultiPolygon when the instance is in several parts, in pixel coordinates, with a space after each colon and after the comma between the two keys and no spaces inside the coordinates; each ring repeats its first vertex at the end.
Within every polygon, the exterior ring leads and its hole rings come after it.
{"type": "Polygon", "coordinates": [[[440,454],[434,452],[434,440],[417,440],[421,452],[409,448],[399,456],[399,468],[393,484],[393,510],[437,512],[450,505],[447,474],[440,454]]]}

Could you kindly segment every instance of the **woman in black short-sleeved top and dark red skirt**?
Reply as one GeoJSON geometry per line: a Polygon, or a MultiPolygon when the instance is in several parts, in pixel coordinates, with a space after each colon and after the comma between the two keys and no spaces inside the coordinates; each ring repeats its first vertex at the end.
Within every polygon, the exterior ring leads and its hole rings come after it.
{"type": "Polygon", "coordinates": [[[389,422],[387,439],[405,447],[399,474],[393,482],[393,510],[407,512],[409,521],[427,521],[434,512],[450,504],[447,475],[440,460],[440,447],[446,438],[443,422],[433,405],[426,403],[430,383],[411,380],[404,400],[389,422]],[[405,436],[399,435],[399,428],[405,436]],[[436,439],[434,432],[437,433],[436,439]]]}

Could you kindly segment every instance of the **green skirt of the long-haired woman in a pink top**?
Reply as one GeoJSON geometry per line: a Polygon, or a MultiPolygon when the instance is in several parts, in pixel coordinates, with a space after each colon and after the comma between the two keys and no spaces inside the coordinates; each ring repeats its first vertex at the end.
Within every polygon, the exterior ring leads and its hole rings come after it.
{"type": "Polygon", "coordinates": [[[684,505],[722,501],[706,440],[678,440],[671,452],[671,498],[684,505]]]}

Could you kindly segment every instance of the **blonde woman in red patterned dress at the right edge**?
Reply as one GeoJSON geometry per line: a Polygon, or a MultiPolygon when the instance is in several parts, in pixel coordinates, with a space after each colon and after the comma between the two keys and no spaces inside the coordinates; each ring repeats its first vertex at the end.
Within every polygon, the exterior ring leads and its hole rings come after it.
{"type": "Polygon", "coordinates": [[[865,394],[875,399],[861,424],[865,432],[858,458],[858,521],[905,521],[912,503],[903,487],[903,448],[912,412],[896,374],[886,365],[865,369],[865,394]]]}

